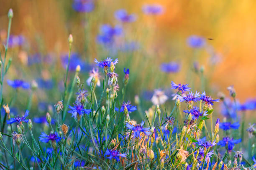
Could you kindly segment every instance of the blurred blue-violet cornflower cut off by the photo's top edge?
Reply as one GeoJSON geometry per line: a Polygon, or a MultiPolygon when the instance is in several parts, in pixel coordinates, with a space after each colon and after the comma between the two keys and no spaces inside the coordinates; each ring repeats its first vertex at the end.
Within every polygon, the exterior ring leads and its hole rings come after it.
{"type": "Polygon", "coordinates": [[[94,10],[93,0],[74,0],[72,7],[79,13],[90,13],[94,10]]]}

